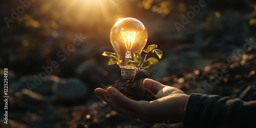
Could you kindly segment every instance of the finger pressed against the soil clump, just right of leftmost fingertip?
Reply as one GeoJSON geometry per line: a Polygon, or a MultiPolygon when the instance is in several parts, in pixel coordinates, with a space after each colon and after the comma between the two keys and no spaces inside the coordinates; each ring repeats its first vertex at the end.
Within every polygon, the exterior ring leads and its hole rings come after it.
{"type": "Polygon", "coordinates": [[[125,109],[136,112],[136,113],[141,113],[145,114],[146,112],[146,106],[149,104],[148,101],[135,101],[132,100],[126,96],[124,96],[121,92],[119,92],[115,88],[108,88],[107,89],[116,99],[117,102],[119,102],[120,105],[122,105],[125,109]]]}

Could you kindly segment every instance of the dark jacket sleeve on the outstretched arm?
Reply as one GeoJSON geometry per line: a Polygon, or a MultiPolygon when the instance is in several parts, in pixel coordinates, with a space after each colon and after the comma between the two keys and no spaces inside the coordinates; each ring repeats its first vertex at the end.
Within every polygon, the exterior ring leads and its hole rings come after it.
{"type": "Polygon", "coordinates": [[[187,100],[184,127],[256,127],[256,101],[193,93],[187,100]]]}

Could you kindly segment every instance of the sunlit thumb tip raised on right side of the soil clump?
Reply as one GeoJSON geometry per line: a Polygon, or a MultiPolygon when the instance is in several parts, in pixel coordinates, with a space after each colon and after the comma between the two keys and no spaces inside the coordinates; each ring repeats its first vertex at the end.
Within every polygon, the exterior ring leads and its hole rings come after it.
{"type": "Polygon", "coordinates": [[[152,90],[153,92],[157,93],[159,90],[163,89],[165,86],[160,83],[157,82],[153,79],[144,79],[143,81],[143,85],[147,88],[152,90]]]}

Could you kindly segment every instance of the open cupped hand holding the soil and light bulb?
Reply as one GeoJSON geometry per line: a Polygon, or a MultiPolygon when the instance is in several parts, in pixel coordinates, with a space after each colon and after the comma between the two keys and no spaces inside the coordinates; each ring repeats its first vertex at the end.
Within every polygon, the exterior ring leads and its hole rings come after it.
{"type": "Polygon", "coordinates": [[[98,88],[94,93],[103,98],[120,114],[136,117],[148,123],[183,122],[188,95],[177,88],[164,86],[152,79],[145,79],[143,85],[157,93],[156,100],[150,102],[145,100],[135,101],[112,87],[109,87],[106,91],[98,88]]]}

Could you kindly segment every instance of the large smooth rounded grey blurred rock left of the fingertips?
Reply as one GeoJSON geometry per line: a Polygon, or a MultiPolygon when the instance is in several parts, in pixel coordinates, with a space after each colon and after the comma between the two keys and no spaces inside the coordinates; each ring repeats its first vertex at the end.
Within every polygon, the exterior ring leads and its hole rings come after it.
{"type": "Polygon", "coordinates": [[[57,100],[74,101],[82,99],[87,95],[88,87],[78,78],[61,79],[58,83],[55,94],[57,100]]]}

